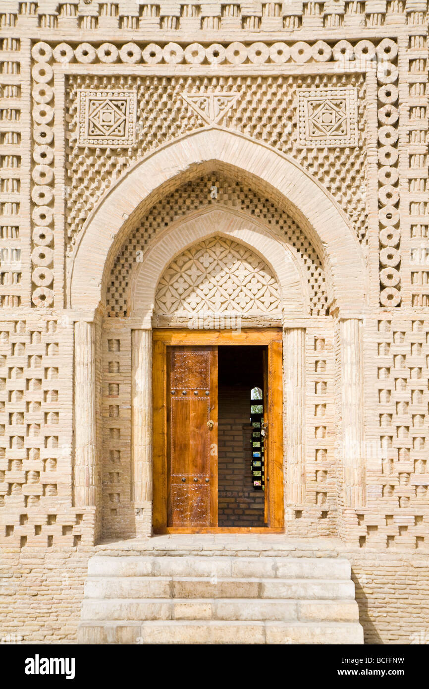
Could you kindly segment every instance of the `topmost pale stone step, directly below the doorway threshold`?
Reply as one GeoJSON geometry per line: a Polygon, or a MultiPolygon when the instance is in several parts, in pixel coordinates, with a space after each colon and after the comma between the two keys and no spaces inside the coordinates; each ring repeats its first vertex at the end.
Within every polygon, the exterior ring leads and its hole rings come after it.
{"type": "Polygon", "coordinates": [[[96,555],[89,577],[280,577],[350,579],[350,563],[335,557],[222,557],[96,555]]]}

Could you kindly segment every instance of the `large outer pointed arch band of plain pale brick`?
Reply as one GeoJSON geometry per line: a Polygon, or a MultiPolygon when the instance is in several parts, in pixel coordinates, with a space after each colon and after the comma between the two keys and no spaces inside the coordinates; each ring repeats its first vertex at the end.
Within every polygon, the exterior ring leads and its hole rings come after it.
{"type": "Polygon", "coordinates": [[[169,182],[208,161],[241,169],[258,180],[267,194],[280,195],[324,263],[330,302],[343,309],[364,307],[364,256],[353,227],[331,195],[284,154],[236,132],[212,128],[150,154],[101,199],[83,227],[72,258],[68,280],[72,308],[94,311],[98,307],[105,276],[145,200],[157,190],[166,193],[169,182]]]}

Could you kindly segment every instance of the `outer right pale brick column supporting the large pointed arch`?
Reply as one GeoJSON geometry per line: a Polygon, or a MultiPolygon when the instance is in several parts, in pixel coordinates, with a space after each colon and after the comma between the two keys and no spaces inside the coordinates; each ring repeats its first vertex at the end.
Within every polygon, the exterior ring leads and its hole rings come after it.
{"type": "Polygon", "coordinates": [[[339,321],[342,381],[342,460],[344,507],[365,504],[364,464],[364,376],[362,362],[362,321],[339,321]]]}

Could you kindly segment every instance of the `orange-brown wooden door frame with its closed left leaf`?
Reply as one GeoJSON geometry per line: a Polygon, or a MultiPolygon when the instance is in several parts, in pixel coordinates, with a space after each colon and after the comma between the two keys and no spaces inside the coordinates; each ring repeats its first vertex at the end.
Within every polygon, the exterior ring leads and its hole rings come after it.
{"type": "Polygon", "coordinates": [[[284,531],[282,330],[158,329],[153,356],[154,532],[284,531]],[[218,527],[218,345],[266,346],[266,527],[218,527]]]}

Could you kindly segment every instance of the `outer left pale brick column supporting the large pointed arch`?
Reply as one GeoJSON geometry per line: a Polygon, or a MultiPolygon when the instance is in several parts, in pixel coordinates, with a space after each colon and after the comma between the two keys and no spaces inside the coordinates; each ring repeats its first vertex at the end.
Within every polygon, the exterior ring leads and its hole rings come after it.
{"type": "Polygon", "coordinates": [[[74,504],[96,506],[96,344],[94,323],[74,324],[74,504]]]}

